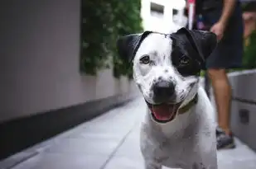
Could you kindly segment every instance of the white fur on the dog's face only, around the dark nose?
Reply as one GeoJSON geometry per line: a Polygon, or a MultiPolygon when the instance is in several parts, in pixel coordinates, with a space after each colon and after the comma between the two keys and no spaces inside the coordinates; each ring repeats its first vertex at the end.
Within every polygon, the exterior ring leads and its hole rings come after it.
{"type": "MultiPolygon", "coordinates": [[[[199,81],[198,77],[182,77],[171,65],[171,39],[162,34],[152,33],[148,35],[138,48],[133,60],[133,78],[141,87],[142,95],[149,103],[152,101],[152,84],[153,80],[162,77],[167,81],[173,81],[176,84],[176,102],[182,101],[186,97],[187,101],[192,96],[187,96],[193,90],[190,84],[199,81]],[[139,59],[145,54],[150,56],[153,65],[141,64],[139,59]]],[[[191,92],[191,93],[196,93],[191,92]]],[[[186,104],[184,101],[183,104],[186,104]]]]}

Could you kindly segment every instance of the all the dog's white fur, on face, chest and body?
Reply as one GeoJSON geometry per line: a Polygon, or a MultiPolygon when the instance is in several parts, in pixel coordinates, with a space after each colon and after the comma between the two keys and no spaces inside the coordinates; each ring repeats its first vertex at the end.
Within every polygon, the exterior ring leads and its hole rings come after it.
{"type": "Polygon", "coordinates": [[[154,104],[152,84],[158,77],[176,83],[176,102],[183,101],[182,104],[186,105],[197,93],[198,103],[167,124],[152,120],[148,110],[141,131],[145,168],[217,169],[212,106],[204,89],[199,86],[199,77],[182,77],[171,64],[171,43],[165,35],[148,35],[133,60],[134,80],[149,103],[154,104]],[[145,54],[150,56],[151,64],[139,62],[145,54]],[[196,85],[191,86],[192,83],[196,85]]]}

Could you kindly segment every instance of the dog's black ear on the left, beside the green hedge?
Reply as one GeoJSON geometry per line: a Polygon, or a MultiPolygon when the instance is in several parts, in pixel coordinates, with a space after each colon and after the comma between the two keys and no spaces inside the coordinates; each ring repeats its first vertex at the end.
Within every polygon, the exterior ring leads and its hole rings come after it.
{"type": "Polygon", "coordinates": [[[142,40],[144,40],[150,33],[152,33],[152,31],[145,31],[142,34],[131,34],[119,37],[117,40],[119,57],[130,63],[133,60],[139,45],[141,45],[142,40]]]}

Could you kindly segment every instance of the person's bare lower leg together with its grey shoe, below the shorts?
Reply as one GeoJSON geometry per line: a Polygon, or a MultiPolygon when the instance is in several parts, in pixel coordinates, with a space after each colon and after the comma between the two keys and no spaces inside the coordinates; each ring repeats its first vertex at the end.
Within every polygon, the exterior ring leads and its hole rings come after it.
{"type": "Polygon", "coordinates": [[[208,69],[218,112],[217,148],[234,148],[234,138],[229,125],[231,87],[225,69],[208,69]]]}

